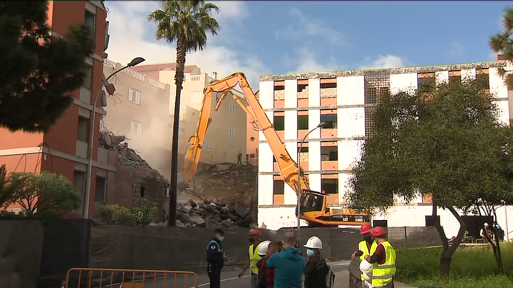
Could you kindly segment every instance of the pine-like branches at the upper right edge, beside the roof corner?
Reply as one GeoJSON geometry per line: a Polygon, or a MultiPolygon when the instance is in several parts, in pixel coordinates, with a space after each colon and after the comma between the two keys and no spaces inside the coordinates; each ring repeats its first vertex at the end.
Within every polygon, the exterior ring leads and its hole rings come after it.
{"type": "MultiPolygon", "coordinates": [[[[488,44],[492,51],[501,53],[507,61],[513,63],[513,6],[504,9],[502,26],[504,31],[491,35],[488,44]]],[[[499,68],[499,74],[508,87],[513,87],[513,74],[508,73],[503,67],[499,68]]]]}

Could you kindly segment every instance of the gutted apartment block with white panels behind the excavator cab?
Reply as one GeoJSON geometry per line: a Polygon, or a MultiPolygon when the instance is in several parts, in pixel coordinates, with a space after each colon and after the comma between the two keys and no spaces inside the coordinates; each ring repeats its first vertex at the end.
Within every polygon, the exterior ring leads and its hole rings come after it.
{"type": "MultiPolygon", "coordinates": [[[[505,65],[497,61],[261,76],[260,103],[296,161],[300,141],[306,133],[320,122],[331,124],[308,136],[299,157],[310,189],[328,193],[331,207],[344,207],[351,164],[360,157],[362,141],[373,131],[369,112],[375,109],[381,94],[442,81],[461,81],[465,77],[484,77],[497,97],[500,120],[509,123],[513,113],[508,89],[497,72],[498,67],[505,65]]],[[[297,196],[280,179],[278,166],[273,163],[274,157],[262,134],[258,152],[259,225],[265,223],[270,229],[296,225],[297,196]]],[[[457,220],[444,210],[440,214],[442,225],[448,229],[447,236],[455,235],[459,227],[457,220]]],[[[425,215],[431,215],[431,199],[419,195],[411,205],[398,203],[388,214],[377,215],[374,220],[383,220],[389,227],[424,226],[425,215]]],[[[506,227],[505,213],[499,217],[502,217],[499,223],[506,227]]]]}

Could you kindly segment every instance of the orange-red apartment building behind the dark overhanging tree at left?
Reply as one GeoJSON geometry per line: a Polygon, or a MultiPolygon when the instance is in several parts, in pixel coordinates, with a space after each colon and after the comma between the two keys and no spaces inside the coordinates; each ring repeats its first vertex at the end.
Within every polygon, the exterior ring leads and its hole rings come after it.
{"type": "MultiPolygon", "coordinates": [[[[83,87],[71,93],[73,104],[55,125],[46,133],[11,133],[0,130],[0,164],[6,164],[8,172],[49,171],[63,175],[84,192],[88,155],[89,131],[92,116],[92,91],[101,89],[103,78],[103,55],[108,45],[108,23],[103,1],[48,1],[48,25],[55,37],[66,35],[71,25],[88,25],[95,40],[95,50],[86,59],[88,73],[83,87]]],[[[98,101],[96,113],[105,115],[98,101]]],[[[93,165],[89,216],[93,217],[95,193],[106,193],[106,179],[115,167],[107,162],[107,156],[98,157],[98,129],[100,118],[96,117],[93,141],[93,165]],[[97,191],[101,190],[101,191],[97,191]]],[[[15,210],[16,207],[13,207],[15,210]]],[[[77,213],[82,214],[81,211],[77,213]]]]}

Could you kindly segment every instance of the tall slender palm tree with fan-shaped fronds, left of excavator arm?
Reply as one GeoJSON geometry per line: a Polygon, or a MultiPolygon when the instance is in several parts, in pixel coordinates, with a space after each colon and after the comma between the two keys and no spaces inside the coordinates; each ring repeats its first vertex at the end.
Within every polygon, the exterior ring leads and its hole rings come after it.
{"type": "Polygon", "coordinates": [[[174,101],[173,143],[171,147],[171,188],[168,225],[176,223],[176,186],[178,181],[178,134],[180,124],[180,96],[184,82],[187,52],[203,50],[207,45],[207,32],[218,34],[218,22],[211,17],[219,7],[205,1],[160,1],[160,8],[148,15],[157,23],[155,37],[169,43],[176,42],[176,98],[174,101]]]}

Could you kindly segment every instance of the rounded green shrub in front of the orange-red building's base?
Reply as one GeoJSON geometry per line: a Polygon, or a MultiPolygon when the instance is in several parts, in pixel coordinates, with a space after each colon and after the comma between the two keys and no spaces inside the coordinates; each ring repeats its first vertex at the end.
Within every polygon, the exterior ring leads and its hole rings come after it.
{"type": "Polygon", "coordinates": [[[21,187],[13,199],[26,217],[61,217],[80,208],[82,202],[80,192],[62,175],[12,172],[9,182],[21,187]]]}

